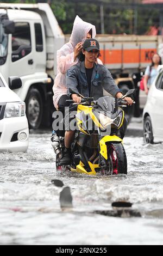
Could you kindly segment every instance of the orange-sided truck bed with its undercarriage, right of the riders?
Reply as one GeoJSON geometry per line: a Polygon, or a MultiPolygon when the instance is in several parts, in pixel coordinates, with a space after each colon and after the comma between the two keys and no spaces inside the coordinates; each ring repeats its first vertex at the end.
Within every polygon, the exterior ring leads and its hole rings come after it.
{"type": "MultiPolygon", "coordinates": [[[[101,47],[101,60],[110,70],[115,81],[125,93],[136,88],[135,116],[140,115],[140,108],[145,105],[146,95],[140,92],[137,83],[146,67],[151,64],[154,53],[162,55],[162,36],[153,35],[97,35],[101,47]],[[139,102],[140,101],[140,102],[139,102]]],[[[133,109],[127,109],[131,116],[133,109]]]]}

